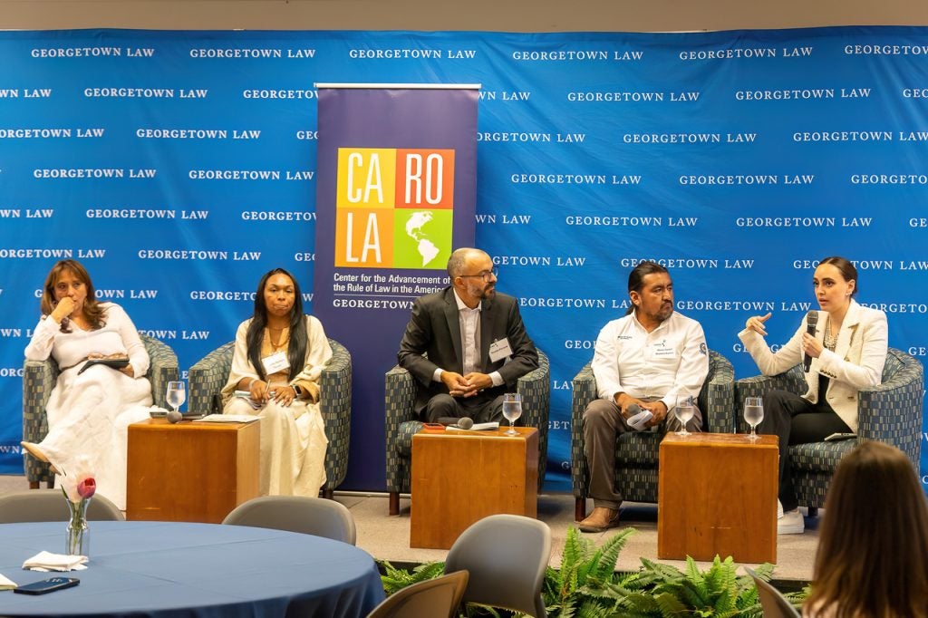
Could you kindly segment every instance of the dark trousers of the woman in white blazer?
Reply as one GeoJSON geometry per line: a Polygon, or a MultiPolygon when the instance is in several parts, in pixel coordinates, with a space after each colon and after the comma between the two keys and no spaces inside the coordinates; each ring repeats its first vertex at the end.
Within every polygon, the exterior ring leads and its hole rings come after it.
{"type": "Polygon", "coordinates": [[[790,470],[790,446],[821,442],[831,433],[848,431],[851,428],[828,402],[811,404],[787,391],[771,391],[764,396],[764,420],[757,426],[757,432],[780,438],[780,502],[784,511],[799,506],[790,470]]]}

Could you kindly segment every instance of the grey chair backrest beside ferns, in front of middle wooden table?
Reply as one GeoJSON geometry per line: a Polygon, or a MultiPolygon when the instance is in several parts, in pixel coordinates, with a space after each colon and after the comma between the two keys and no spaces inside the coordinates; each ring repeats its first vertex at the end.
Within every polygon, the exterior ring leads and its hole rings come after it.
{"type": "Polygon", "coordinates": [[[547,616],[541,586],[551,555],[551,529],[522,515],[490,515],[458,536],[445,573],[467,570],[465,602],[547,616]]]}

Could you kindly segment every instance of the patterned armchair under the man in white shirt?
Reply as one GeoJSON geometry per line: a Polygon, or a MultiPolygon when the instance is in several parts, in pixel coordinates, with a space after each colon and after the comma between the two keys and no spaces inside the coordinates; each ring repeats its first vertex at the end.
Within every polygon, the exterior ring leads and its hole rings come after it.
{"type": "MultiPolygon", "coordinates": [[[[709,351],[709,374],[699,393],[702,431],[731,431],[731,406],[734,401],[735,372],[728,359],[709,351]]],[[[584,456],[583,413],[596,399],[596,378],[589,363],[574,377],[571,402],[571,478],[574,483],[574,517],[586,517],[589,491],[589,468],[584,456]]],[[[625,500],[657,502],[658,449],[661,434],[631,431],[620,435],[615,444],[615,487],[625,500]]]]}

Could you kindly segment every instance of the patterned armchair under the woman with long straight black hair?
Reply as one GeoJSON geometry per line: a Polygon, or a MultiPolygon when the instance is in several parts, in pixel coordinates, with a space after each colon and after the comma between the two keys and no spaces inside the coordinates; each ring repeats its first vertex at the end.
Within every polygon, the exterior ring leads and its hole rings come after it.
{"type": "MultiPolygon", "coordinates": [[[[329,365],[319,377],[319,411],[326,423],[326,483],[322,494],[332,496],[332,491],[342,484],[348,471],[348,445],[351,436],[351,354],[334,339],[329,339],[332,357],[329,365]]],[[[190,367],[187,409],[190,414],[221,414],[222,401],[219,393],[226,386],[232,369],[232,354],[235,341],[207,354],[196,365],[190,367]]]]}

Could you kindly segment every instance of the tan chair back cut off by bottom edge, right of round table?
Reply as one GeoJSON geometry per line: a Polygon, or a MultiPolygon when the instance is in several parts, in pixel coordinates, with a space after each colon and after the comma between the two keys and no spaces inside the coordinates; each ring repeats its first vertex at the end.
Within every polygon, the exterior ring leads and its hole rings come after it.
{"type": "Polygon", "coordinates": [[[468,572],[458,571],[394,592],[367,618],[454,618],[467,588],[468,572]]]}

